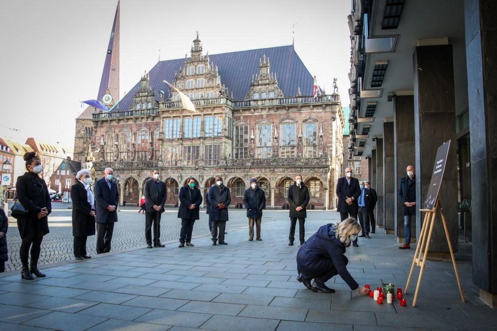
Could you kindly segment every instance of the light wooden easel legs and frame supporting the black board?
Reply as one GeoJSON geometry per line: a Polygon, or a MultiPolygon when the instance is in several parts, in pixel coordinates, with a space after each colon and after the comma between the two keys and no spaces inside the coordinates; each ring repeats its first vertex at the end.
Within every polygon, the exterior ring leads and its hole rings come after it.
{"type": "Polygon", "coordinates": [[[450,243],[449,230],[447,229],[447,222],[445,222],[445,216],[443,215],[442,206],[440,204],[440,199],[437,198],[435,206],[433,209],[419,209],[421,212],[425,212],[423,225],[421,227],[421,233],[419,234],[419,242],[416,246],[416,252],[414,253],[413,265],[411,265],[411,271],[409,272],[409,277],[407,279],[406,289],[404,292],[407,294],[409,287],[409,282],[411,281],[411,276],[413,275],[414,265],[420,267],[419,277],[417,279],[416,291],[414,293],[413,307],[416,306],[417,294],[419,291],[419,285],[421,284],[421,278],[423,276],[424,265],[426,264],[426,255],[428,254],[428,249],[430,245],[431,233],[433,232],[433,225],[435,224],[435,216],[437,210],[440,211],[442,216],[442,224],[445,230],[445,237],[447,237],[447,243],[449,245],[450,257],[452,258],[452,264],[454,265],[454,271],[456,273],[457,284],[459,285],[459,292],[461,294],[462,302],[465,302],[463,289],[461,287],[461,281],[459,280],[459,272],[457,271],[456,260],[454,258],[454,252],[452,251],[452,244],[450,243]],[[421,259],[421,255],[423,256],[421,259]]]}

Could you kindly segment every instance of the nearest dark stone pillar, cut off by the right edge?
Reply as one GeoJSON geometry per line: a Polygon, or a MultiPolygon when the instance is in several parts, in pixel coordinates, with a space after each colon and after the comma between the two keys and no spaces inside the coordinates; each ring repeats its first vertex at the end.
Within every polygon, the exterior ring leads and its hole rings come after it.
{"type": "Polygon", "coordinates": [[[497,3],[464,1],[471,145],[473,283],[497,307],[497,3]]]}

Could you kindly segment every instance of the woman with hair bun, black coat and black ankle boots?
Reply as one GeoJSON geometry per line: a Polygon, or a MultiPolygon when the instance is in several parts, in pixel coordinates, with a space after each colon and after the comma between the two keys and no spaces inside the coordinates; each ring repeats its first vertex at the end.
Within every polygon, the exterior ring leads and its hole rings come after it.
{"type": "Polygon", "coordinates": [[[28,172],[19,176],[15,183],[17,199],[28,211],[17,218],[17,229],[22,239],[19,256],[22,263],[21,277],[34,279],[32,273],[37,277],[45,277],[38,270],[38,259],[43,236],[50,232],[47,216],[52,212],[52,203],[47,184],[38,175],[42,171],[42,164],[36,152],[24,154],[24,161],[28,172]],[[28,268],[30,248],[31,265],[28,268]]]}

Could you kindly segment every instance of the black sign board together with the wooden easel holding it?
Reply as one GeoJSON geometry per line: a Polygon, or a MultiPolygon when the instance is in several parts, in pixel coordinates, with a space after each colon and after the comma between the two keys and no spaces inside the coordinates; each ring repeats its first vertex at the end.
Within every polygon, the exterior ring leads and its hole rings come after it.
{"type": "Polygon", "coordinates": [[[450,242],[450,235],[449,235],[449,230],[447,228],[447,222],[445,221],[442,205],[440,204],[440,198],[438,196],[440,194],[440,186],[442,184],[443,173],[445,171],[445,164],[447,163],[449,148],[450,148],[450,140],[444,142],[437,149],[435,165],[433,166],[433,172],[431,174],[430,187],[428,188],[426,199],[423,202],[423,208],[419,209],[419,211],[425,213],[423,219],[423,225],[421,227],[421,232],[419,234],[420,237],[419,244],[416,246],[413,264],[411,265],[411,271],[409,272],[409,277],[407,279],[406,289],[404,290],[404,292],[407,293],[409,283],[411,282],[411,276],[413,275],[414,266],[416,265],[419,266],[420,267],[419,277],[417,279],[416,291],[414,292],[413,307],[416,306],[417,294],[419,292],[419,285],[421,284],[421,278],[423,277],[424,265],[426,264],[426,256],[429,250],[431,233],[433,232],[433,226],[435,224],[435,216],[437,211],[440,212],[440,216],[442,217],[442,224],[445,230],[445,237],[447,238],[447,243],[449,245],[452,264],[454,265],[457,284],[459,285],[461,300],[462,302],[465,302],[463,289],[461,287],[461,281],[459,280],[459,272],[457,271],[456,260],[454,258],[454,252],[452,251],[452,244],[450,242]]]}

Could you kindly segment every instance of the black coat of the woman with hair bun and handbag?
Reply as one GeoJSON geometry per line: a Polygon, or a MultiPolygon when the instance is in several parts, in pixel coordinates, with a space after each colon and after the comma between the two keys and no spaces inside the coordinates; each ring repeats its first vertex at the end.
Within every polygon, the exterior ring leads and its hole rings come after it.
{"type": "Polygon", "coordinates": [[[41,237],[50,232],[48,229],[48,217],[38,218],[38,213],[43,207],[48,210],[48,215],[52,212],[52,202],[48,193],[47,184],[43,179],[33,172],[26,172],[17,177],[15,183],[17,199],[28,210],[17,218],[17,228],[21,238],[34,235],[41,237]]]}

